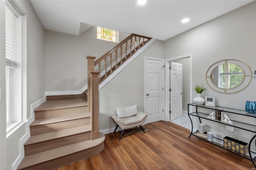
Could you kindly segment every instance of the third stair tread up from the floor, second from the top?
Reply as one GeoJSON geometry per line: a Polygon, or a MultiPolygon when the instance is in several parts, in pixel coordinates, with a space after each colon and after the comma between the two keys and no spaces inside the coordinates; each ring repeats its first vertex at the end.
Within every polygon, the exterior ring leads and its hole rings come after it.
{"type": "Polygon", "coordinates": [[[38,125],[45,125],[50,123],[57,123],[62,121],[69,121],[69,120],[75,120],[75,119],[82,119],[86,117],[90,117],[90,113],[80,113],[76,115],[68,115],[68,116],[62,116],[62,117],[54,117],[54,118],[47,118],[47,119],[36,119],[31,124],[32,126],[38,126],[38,125]]]}

